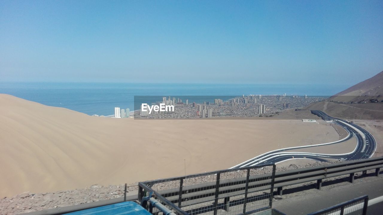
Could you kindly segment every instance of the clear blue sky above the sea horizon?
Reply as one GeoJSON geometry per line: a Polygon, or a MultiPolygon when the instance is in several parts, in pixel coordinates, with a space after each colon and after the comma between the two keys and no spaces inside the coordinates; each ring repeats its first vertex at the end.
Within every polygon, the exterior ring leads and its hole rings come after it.
{"type": "Polygon", "coordinates": [[[354,84],[383,1],[0,1],[0,81],[354,84]]]}

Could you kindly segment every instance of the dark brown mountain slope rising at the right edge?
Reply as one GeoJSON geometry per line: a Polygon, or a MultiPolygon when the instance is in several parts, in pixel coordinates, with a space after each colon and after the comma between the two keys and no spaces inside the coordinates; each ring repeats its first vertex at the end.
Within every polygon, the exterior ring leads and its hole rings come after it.
{"type": "Polygon", "coordinates": [[[383,71],[329,98],[329,101],[364,103],[383,100],[383,71]]]}

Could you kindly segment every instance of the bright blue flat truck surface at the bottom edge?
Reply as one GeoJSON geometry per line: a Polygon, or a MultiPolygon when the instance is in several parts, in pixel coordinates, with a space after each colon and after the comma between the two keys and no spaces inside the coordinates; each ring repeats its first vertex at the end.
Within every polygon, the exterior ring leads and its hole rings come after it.
{"type": "Polygon", "coordinates": [[[121,202],[113,205],[80,210],[65,215],[152,215],[136,202],[121,202]]]}

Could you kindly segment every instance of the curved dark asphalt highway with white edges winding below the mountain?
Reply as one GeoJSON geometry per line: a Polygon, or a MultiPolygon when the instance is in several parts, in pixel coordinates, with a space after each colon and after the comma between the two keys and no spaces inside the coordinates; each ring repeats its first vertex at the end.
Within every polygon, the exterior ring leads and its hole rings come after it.
{"type": "Polygon", "coordinates": [[[331,117],[323,111],[314,110],[314,111],[311,111],[311,113],[319,117],[322,117],[322,119],[326,119],[327,121],[332,121],[332,123],[336,123],[342,126],[348,133],[347,137],[343,138],[342,140],[338,140],[331,143],[306,145],[306,146],[300,146],[300,147],[289,147],[289,148],[282,148],[279,150],[269,151],[255,158],[247,160],[243,163],[240,163],[239,165],[233,166],[230,169],[237,168],[237,167],[245,167],[245,166],[280,163],[280,162],[291,160],[291,159],[310,159],[310,160],[316,160],[316,161],[328,161],[327,159],[357,160],[362,158],[370,158],[373,155],[376,149],[376,142],[374,137],[370,134],[370,132],[368,132],[367,130],[363,129],[362,127],[358,125],[349,123],[343,119],[331,117]],[[353,137],[355,137],[357,140],[357,147],[355,147],[354,151],[350,153],[322,154],[322,153],[309,153],[309,152],[287,152],[293,149],[337,144],[337,143],[341,143],[346,140],[349,140],[353,137]]]}

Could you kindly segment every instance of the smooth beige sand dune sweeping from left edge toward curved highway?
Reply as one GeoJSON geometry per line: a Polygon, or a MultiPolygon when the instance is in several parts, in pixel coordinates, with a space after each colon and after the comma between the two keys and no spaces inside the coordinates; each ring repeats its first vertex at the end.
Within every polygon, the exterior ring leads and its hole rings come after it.
{"type": "Polygon", "coordinates": [[[338,139],[301,120],[113,119],[0,94],[0,197],[226,169],[278,142],[338,139]]]}

